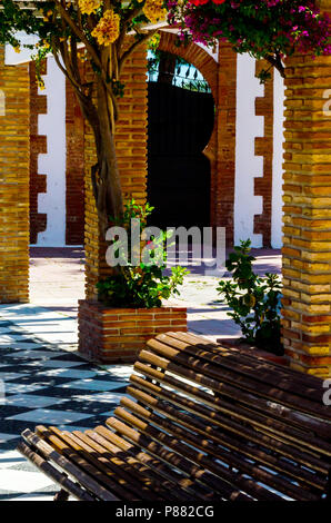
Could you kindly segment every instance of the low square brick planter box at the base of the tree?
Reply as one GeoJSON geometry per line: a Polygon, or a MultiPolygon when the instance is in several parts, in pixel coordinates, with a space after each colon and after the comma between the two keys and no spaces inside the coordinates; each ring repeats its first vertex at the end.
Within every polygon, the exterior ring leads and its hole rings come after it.
{"type": "Polygon", "coordinates": [[[187,308],[110,308],[81,299],[78,329],[83,356],[100,363],[133,363],[147,339],[170,330],[188,330],[187,308]]]}

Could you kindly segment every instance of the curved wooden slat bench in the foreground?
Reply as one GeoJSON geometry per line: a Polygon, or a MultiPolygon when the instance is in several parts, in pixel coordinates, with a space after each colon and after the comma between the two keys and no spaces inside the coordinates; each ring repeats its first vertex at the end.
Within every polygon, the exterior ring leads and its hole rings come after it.
{"type": "Polygon", "coordinates": [[[181,333],[149,341],[134,371],[107,426],[22,433],[58,500],[330,499],[320,378],[181,333]]]}

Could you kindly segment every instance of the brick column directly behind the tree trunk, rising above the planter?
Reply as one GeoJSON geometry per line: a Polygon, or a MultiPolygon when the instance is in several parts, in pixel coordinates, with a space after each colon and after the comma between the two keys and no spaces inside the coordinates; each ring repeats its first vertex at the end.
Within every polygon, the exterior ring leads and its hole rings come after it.
{"type": "MultiPolygon", "coordinates": [[[[124,96],[119,102],[116,147],[124,200],[143,204],[147,197],[147,52],[138,49],[127,61],[121,81],[124,96]]],[[[96,162],[91,129],[86,127],[86,297],[97,297],[96,284],[111,274],[106,264],[106,243],[100,238],[90,167],[96,162]]]]}

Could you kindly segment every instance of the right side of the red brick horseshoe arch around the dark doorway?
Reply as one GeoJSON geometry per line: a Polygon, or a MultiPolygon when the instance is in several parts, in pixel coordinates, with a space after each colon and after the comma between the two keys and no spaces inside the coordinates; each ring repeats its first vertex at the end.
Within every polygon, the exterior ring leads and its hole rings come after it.
{"type": "Polygon", "coordinates": [[[159,49],[178,55],[192,63],[208,81],[215,105],[214,128],[204,155],[211,167],[210,224],[224,227],[227,244],[233,245],[235,177],[235,92],[237,55],[228,43],[220,43],[215,61],[195,43],[178,47],[175,34],[161,32],[159,49]]]}

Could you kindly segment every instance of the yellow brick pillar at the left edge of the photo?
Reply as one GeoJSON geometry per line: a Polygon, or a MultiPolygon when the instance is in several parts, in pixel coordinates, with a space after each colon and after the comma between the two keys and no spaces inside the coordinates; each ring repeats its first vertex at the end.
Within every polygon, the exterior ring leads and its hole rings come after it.
{"type": "Polygon", "coordinates": [[[29,300],[29,68],[0,47],[0,303],[29,300]]]}

